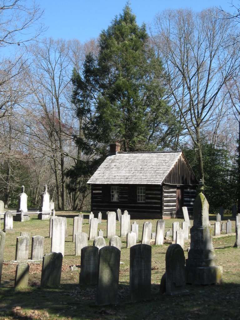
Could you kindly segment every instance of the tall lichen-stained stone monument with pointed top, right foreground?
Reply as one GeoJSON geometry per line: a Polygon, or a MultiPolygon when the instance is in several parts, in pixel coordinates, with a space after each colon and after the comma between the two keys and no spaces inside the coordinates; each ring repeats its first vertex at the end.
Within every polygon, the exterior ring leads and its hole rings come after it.
{"type": "Polygon", "coordinates": [[[204,184],[200,180],[193,205],[191,244],[186,260],[186,283],[216,284],[222,281],[222,267],[217,266],[212,246],[212,229],[208,217],[209,204],[203,190],[204,184]]]}

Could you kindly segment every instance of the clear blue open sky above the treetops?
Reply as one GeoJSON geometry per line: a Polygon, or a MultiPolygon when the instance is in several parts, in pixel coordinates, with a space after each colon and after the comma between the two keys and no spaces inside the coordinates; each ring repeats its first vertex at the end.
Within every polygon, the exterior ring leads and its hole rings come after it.
{"type": "MultiPolygon", "coordinates": [[[[30,2],[30,0],[27,0],[30,2]]],[[[108,28],[116,15],[122,12],[126,0],[36,0],[44,10],[43,22],[48,30],[46,37],[53,39],[78,39],[85,42],[99,36],[108,28]]],[[[212,6],[221,6],[230,11],[229,0],[132,0],[130,6],[137,23],[153,22],[154,16],[164,9],[192,8],[200,11],[212,6]]],[[[235,3],[238,4],[237,0],[235,3]]]]}

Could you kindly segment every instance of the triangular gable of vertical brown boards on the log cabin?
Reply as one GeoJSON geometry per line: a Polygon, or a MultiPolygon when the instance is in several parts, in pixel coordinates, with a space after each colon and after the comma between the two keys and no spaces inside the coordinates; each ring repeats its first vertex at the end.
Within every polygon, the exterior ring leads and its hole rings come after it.
{"type": "Polygon", "coordinates": [[[174,185],[196,185],[197,180],[184,156],[181,155],[163,182],[174,185]]]}

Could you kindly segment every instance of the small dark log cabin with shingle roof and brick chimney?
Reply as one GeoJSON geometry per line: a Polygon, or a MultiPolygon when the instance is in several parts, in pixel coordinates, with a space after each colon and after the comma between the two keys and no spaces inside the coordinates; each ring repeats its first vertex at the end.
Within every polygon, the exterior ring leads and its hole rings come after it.
{"type": "Polygon", "coordinates": [[[182,216],[193,212],[198,181],[181,151],[122,152],[110,144],[110,154],[88,180],[91,211],[127,210],[134,219],[182,216]]]}

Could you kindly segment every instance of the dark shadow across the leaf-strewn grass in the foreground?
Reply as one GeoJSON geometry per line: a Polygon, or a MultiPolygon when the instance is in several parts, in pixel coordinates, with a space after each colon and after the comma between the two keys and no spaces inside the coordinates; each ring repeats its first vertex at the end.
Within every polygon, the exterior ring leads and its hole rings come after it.
{"type": "Polygon", "coordinates": [[[94,286],[61,284],[57,289],[0,289],[0,314],[14,319],[239,319],[240,284],[188,285],[187,296],[159,294],[132,302],[129,285],[120,284],[118,305],[96,306],[94,286]],[[234,299],[233,299],[234,297],[234,299]]]}

